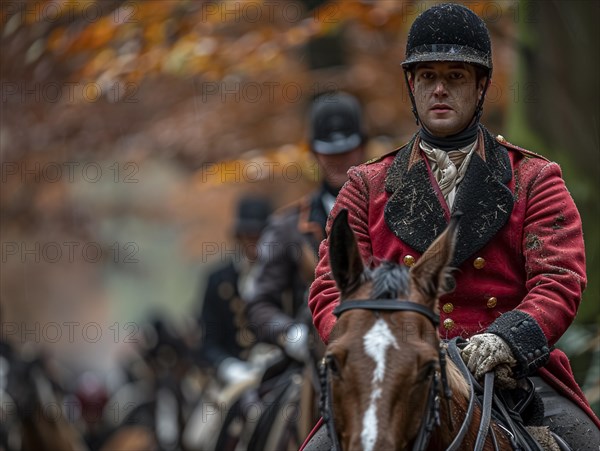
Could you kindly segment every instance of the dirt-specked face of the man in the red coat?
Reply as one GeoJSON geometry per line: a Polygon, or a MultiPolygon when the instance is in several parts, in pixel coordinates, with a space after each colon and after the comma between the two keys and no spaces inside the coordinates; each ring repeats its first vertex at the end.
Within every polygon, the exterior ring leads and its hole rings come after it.
{"type": "Polygon", "coordinates": [[[469,125],[486,79],[477,83],[470,64],[428,62],[417,65],[409,83],[421,123],[434,136],[445,137],[469,125]]]}

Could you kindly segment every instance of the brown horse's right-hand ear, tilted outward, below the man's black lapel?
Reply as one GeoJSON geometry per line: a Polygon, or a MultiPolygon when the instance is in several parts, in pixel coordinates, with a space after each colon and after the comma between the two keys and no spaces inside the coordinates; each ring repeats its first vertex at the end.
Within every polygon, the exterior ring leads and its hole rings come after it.
{"type": "Polygon", "coordinates": [[[413,293],[421,298],[418,301],[436,309],[437,299],[448,291],[448,280],[451,268],[448,266],[454,255],[458,222],[462,216],[456,212],[450,219],[450,224],[431,246],[423,253],[421,258],[410,269],[410,280],[413,293]]]}

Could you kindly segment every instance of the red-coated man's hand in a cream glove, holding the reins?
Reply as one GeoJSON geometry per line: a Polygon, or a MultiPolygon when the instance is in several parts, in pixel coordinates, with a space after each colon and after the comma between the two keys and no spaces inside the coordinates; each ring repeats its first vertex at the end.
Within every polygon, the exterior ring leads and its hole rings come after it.
{"type": "Polygon", "coordinates": [[[517,363],[508,344],[496,334],[473,335],[462,350],[462,359],[476,379],[496,366],[517,363]]]}

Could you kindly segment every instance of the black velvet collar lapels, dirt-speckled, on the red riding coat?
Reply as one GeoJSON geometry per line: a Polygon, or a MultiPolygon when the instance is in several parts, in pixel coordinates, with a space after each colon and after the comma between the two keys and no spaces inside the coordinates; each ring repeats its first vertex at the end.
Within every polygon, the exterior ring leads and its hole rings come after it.
{"type": "MultiPolygon", "coordinates": [[[[492,239],[508,221],[514,205],[513,193],[506,186],[512,179],[508,152],[485,127],[480,125],[480,130],[485,161],[473,154],[452,209],[463,213],[452,261],[455,267],[492,239]]],[[[448,219],[425,160],[421,157],[408,169],[416,138],[398,152],[388,170],[385,188],[391,196],[384,217],[394,235],[422,253],[446,228],[448,219]]]]}

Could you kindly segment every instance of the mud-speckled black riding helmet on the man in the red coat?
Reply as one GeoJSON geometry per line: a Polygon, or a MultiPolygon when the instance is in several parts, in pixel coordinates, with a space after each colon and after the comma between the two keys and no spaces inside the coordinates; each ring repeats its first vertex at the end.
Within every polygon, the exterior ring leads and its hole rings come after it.
{"type": "Polygon", "coordinates": [[[460,61],[492,70],[492,46],[488,29],[473,11],[445,3],[420,14],[406,43],[406,70],[426,61],[460,61]]]}

